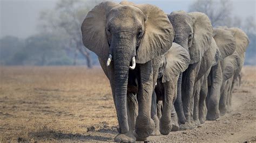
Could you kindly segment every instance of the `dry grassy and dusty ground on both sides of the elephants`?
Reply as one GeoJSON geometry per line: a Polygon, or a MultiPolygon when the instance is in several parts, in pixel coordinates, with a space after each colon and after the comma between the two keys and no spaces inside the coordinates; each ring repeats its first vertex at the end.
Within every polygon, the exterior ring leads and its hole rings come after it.
{"type": "MultiPolygon", "coordinates": [[[[149,141],[256,141],[256,67],[245,67],[233,111],[149,141]]],[[[113,141],[117,117],[102,69],[0,67],[0,141],[113,141]]]]}

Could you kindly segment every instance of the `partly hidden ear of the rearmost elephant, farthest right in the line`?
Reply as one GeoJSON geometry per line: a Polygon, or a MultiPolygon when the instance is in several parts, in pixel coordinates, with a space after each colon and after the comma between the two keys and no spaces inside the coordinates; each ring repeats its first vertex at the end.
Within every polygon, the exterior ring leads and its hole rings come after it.
{"type": "Polygon", "coordinates": [[[243,55],[244,52],[246,51],[246,48],[248,47],[249,42],[250,42],[249,38],[247,37],[245,32],[239,28],[229,28],[228,30],[231,30],[234,32],[234,38],[235,38],[235,41],[237,44],[236,45],[237,48],[235,49],[235,51],[239,55],[243,55]]]}

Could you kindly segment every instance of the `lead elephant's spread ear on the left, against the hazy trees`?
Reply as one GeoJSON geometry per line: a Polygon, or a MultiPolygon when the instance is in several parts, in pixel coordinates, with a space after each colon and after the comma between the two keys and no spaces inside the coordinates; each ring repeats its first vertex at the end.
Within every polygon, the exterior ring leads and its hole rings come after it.
{"type": "Polygon", "coordinates": [[[114,2],[102,2],[87,13],[81,26],[83,44],[100,58],[105,58],[109,52],[106,35],[106,16],[114,6],[114,2]]]}

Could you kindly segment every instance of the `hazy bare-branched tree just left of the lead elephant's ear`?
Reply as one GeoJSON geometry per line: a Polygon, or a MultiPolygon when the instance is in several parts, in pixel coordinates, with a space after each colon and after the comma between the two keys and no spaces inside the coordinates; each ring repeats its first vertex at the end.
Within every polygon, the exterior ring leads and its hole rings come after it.
{"type": "Polygon", "coordinates": [[[41,12],[40,27],[42,32],[58,35],[63,39],[63,47],[72,48],[75,53],[73,65],[76,65],[77,51],[84,56],[87,67],[92,67],[91,52],[84,48],[80,26],[95,5],[102,1],[59,0],[55,9],[41,12]]]}

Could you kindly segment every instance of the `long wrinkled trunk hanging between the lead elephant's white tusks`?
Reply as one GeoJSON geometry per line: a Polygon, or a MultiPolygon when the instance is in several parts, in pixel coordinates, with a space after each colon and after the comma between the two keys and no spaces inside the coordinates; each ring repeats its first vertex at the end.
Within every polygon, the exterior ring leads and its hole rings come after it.
{"type": "Polygon", "coordinates": [[[114,78],[116,83],[115,102],[120,127],[119,133],[125,134],[129,131],[126,97],[129,66],[133,55],[131,47],[124,44],[124,40],[117,43],[118,44],[116,44],[116,46],[113,48],[114,78]]]}

